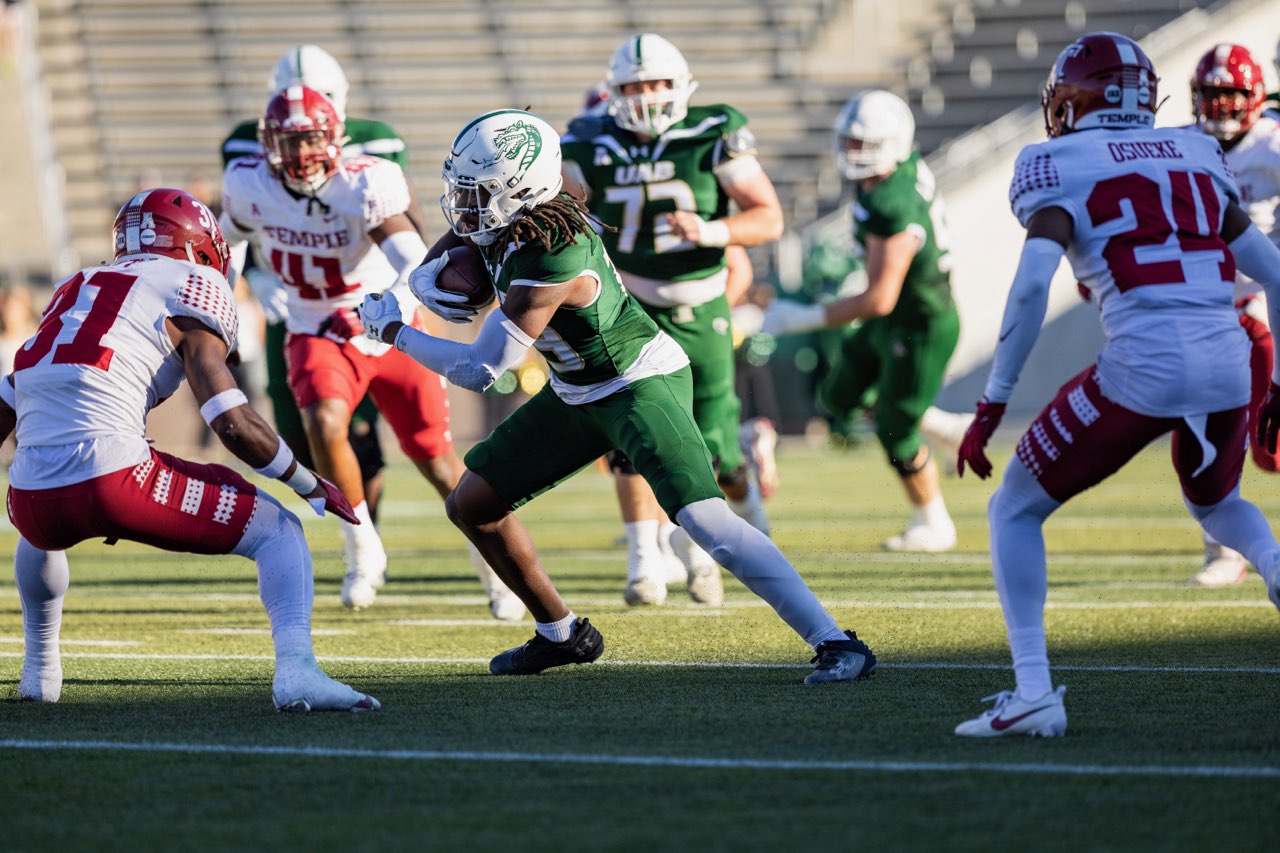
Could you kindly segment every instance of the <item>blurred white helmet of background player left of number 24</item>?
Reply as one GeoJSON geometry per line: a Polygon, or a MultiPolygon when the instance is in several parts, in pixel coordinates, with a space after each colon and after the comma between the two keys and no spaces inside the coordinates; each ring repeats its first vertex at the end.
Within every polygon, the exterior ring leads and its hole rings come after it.
{"type": "Polygon", "coordinates": [[[915,142],[911,108],[882,88],[845,104],[833,129],[836,169],[850,181],[888,174],[911,156],[915,142]]]}

